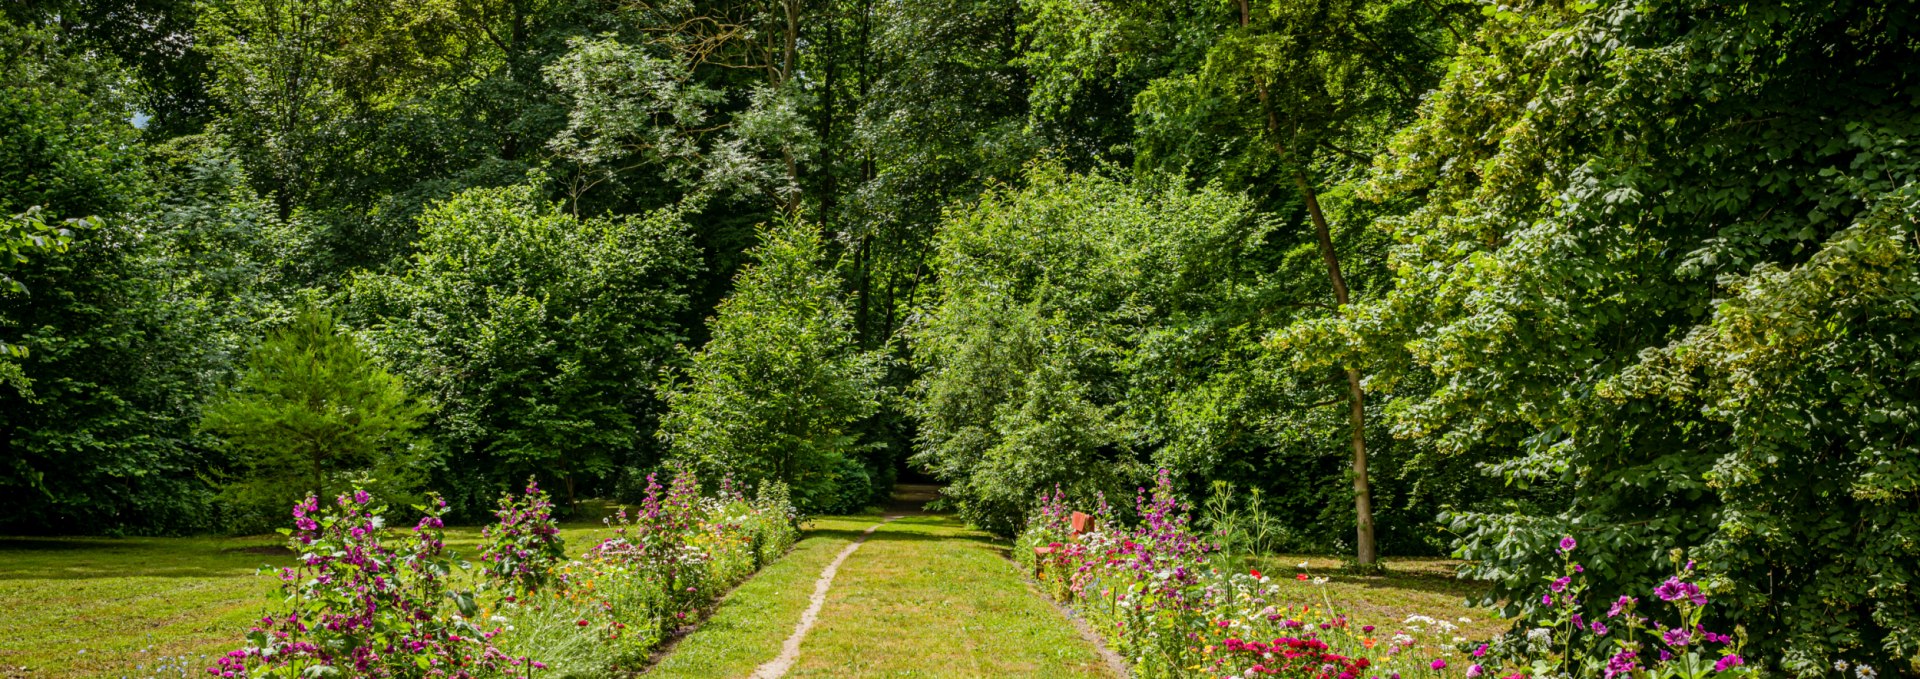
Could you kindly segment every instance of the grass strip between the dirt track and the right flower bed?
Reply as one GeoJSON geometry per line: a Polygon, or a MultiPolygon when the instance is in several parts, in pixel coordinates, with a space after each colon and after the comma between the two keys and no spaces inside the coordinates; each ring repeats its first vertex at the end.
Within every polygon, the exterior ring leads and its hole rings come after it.
{"type": "Polygon", "coordinates": [[[1110,677],[1004,550],[950,516],[883,526],[841,566],[789,677],[1110,677]]]}

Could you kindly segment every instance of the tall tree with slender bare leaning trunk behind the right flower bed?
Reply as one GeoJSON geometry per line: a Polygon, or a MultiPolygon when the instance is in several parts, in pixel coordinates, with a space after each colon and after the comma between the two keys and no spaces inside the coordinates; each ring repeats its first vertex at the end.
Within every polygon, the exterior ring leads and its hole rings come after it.
{"type": "MultiPolygon", "coordinates": [[[[1367,211],[1348,211],[1356,224],[1332,224],[1325,186],[1365,167],[1438,82],[1463,15],[1459,4],[1240,0],[1231,13],[1148,2],[1100,4],[1100,13],[1071,2],[1033,4],[1052,21],[1029,29],[1037,54],[1027,61],[1041,73],[1035,96],[1046,104],[1043,115],[1071,111],[1075,98],[1102,82],[1135,88],[1137,163],[1192,169],[1244,186],[1267,205],[1304,211],[1325,284],[1311,286],[1319,297],[1311,299],[1300,280],[1302,295],[1292,303],[1346,313],[1356,293],[1342,247],[1352,253],[1367,244],[1367,211]],[[1169,58],[1148,58],[1154,48],[1169,58]]],[[[1379,257],[1371,261],[1377,267],[1379,257]]],[[[1292,349],[1277,343],[1275,351],[1292,349]]],[[[1357,562],[1373,564],[1365,380],[1357,364],[1336,370],[1352,458],[1354,549],[1357,562]]]]}

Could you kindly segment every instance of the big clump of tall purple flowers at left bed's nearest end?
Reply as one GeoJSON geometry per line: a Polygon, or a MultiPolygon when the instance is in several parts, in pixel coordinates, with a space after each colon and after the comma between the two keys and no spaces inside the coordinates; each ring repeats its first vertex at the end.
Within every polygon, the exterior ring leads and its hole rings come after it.
{"type": "Polygon", "coordinates": [[[282,529],[300,556],[278,570],[286,610],[248,631],[248,644],[207,669],[217,677],[520,677],[532,669],[495,648],[484,629],[455,608],[472,608],[447,575],[457,562],[445,547],[432,495],[419,524],[386,539],[386,506],[355,489],[323,506],[313,495],[294,504],[282,529]],[[451,604],[451,606],[449,606],[451,604]]]}

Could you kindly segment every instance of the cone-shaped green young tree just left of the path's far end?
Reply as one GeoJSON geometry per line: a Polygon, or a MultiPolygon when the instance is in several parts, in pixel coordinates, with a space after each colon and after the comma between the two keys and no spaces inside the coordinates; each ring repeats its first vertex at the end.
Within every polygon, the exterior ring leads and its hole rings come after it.
{"type": "Polygon", "coordinates": [[[866,468],[891,457],[854,424],[879,409],[881,357],[854,345],[852,315],[820,230],[781,219],[708,322],[712,340],[664,386],[660,439],[708,476],[781,481],[808,514],[864,506],[866,468]]]}

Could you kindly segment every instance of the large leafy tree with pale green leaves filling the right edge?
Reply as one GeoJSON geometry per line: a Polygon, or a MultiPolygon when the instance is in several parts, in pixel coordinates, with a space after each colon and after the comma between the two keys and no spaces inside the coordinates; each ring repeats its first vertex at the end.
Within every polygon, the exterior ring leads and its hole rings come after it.
{"type": "Polygon", "coordinates": [[[1551,535],[1603,597],[1682,547],[1780,669],[1920,662],[1912,10],[1486,8],[1367,186],[1411,201],[1394,292],[1298,332],[1559,497],[1448,518],[1494,597],[1530,606],[1551,535]]]}

